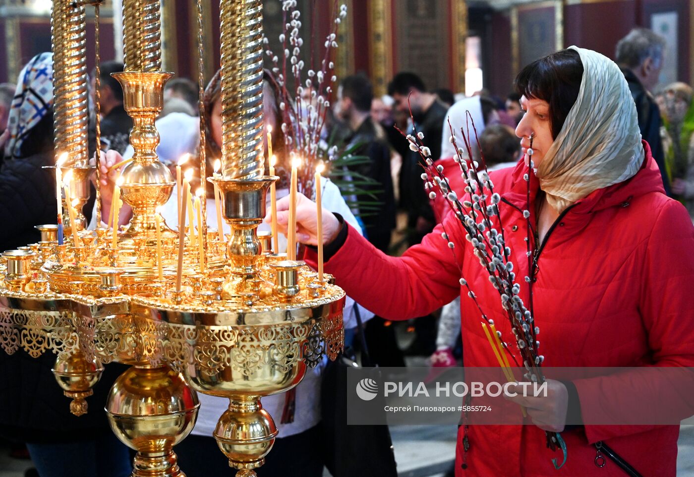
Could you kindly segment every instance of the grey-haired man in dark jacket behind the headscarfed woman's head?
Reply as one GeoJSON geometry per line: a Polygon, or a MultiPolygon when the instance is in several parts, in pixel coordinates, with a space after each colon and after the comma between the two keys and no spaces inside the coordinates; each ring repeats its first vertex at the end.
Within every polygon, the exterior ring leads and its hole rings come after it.
{"type": "Polygon", "coordinates": [[[653,158],[660,168],[665,192],[670,196],[670,180],[665,169],[665,151],[660,137],[663,122],[658,105],[650,93],[658,84],[658,76],[663,68],[664,49],[663,37],[648,28],[634,28],[617,43],[615,58],[636,103],[641,137],[651,147],[653,158]]]}

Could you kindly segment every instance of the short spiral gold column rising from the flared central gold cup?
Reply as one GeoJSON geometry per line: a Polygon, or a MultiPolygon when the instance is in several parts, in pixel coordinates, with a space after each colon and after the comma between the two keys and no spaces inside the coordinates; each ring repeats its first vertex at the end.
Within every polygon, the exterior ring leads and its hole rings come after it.
{"type": "Polygon", "coordinates": [[[126,72],[161,72],[161,29],[159,0],[123,0],[126,72]]]}

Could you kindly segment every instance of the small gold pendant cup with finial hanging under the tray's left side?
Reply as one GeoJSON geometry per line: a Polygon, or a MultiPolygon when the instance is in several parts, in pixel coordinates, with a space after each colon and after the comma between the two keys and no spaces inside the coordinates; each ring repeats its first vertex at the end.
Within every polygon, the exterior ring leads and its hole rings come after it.
{"type": "Polygon", "coordinates": [[[76,416],[87,413],[85,398],[94,394],[92,388],[101,378],[103,365],[96,358],[87,358],[79,351],[68,358],[60,358],[53,365],[53,376],[62,388],[63,394],[72,399],[70,412],[76,416]]]}

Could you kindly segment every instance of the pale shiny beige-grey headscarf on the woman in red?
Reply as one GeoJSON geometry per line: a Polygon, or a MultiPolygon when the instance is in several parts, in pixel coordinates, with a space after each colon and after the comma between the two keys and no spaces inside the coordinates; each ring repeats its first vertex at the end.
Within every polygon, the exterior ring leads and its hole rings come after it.
{"type": "Polygon", "coordinates": [[[559,212],[634,176],[644,159],[636,105],[619,67],[595,51],[570,49],[583,63],[578,99],[537,168],[540,187],[559,212]]]}

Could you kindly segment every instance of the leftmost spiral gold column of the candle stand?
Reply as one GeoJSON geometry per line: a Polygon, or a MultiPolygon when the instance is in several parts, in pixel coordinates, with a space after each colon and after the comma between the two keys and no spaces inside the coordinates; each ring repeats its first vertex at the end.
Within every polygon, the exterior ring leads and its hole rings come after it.
{"type": "Polygon", "coordinates": [[[63,167],[86,165],[87,37],[85,6],[53,1],[53,127],[56,157],[67,153],[63,167]]]}

